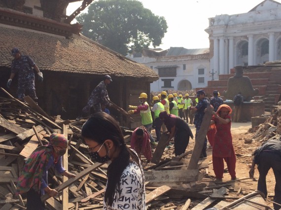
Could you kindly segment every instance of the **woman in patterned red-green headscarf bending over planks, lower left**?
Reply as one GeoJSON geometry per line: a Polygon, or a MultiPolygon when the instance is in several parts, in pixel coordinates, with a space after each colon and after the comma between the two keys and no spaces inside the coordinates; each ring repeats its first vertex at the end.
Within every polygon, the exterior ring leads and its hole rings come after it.
{"type": "Polygon", "coordinates": [[[68,148],[68,140],[63,134],[52,133],[50,143],[40,146],[25,159],[25,166],[17,181],[17,194],[27,192],[27,210],[45,210],[41,195],[50,197],[58,195],[58,191],[48,186],[48,170],[54,166],[56,171],[68,178],[75,177],[62,166],[62,156],[68,148]]]}

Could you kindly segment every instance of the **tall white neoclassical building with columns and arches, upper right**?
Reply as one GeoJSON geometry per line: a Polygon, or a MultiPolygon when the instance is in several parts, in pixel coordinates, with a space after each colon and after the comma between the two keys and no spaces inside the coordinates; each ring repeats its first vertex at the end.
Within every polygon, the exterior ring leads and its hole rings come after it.
{"type": "MultiPolygon", "coordinates": [[[[210,69],[228,74],[236,65],[281,60],[281,3],[264,0],[249,12],[216,15],[205,30],[210,38],[210,69]]],[[[215,78],[217,78],[217,75],[215,78]]]]}

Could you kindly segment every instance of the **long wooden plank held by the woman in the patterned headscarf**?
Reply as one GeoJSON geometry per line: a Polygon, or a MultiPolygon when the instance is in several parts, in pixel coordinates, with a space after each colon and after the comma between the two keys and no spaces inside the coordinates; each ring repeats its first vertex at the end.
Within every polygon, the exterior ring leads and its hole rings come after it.
{"type": "MultiPolygon", "coordinates": [[[[69,180],[67,180],[66,182],[60,184],[56,190],[58,192],[62,191],[63,189],[69,187],[72,183],[74,183],[77,180],[82,179],[84,176],[86,176],[87,174],[90,174],[92,171],[94,171],[95,169],[101,167],[102,165],[104,165],[105,163],[95,163],[94,165],[92,165],[91,167],[85,169],[84,171],[81,171],[79,174],[77,174],[75,177],[70,178],[69,180]]],[[[48,194],[45,194],[43,196],[41,196],[41,200],[45,201],[48,198],[50,198],[50,196],[48,194]]]]}

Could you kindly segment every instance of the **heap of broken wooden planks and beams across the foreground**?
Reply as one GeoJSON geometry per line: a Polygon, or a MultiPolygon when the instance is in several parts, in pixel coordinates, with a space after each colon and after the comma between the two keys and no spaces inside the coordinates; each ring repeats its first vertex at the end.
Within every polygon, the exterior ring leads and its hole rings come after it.
{"type": "MultiPolygon", "coordinates": [[[[15,184],[24,166],[24,158],[39,145],[48,144],[50,134],[57,132],[65,134],[69,139],[69,150],[64,156],[63,165],[76,177],[65,180],[54,170],[48,173],[50,187],[60,193],[54,198],[43,196],[47,209],[102,210],[107,164],[90,160],[87,146],[80,138],[85,120],[76,122],[61,120],[60,116],[50,117],[28,98],[28,103],[22,103],[10,97],[0,98],[0,209],[26,209],[25,195],[15,195],[15,184]]],[[[124,130],[127,143],[130,141],[130,133],[124,130]]],[[[177,157],[173,151],[172,143],[161,153],[157,164],[145,163],[145,159],[141,158],[147,209],[199,210],[213,206],[224,207],[232,203],[233,199],[248,194],[234,185],[240,180],[218,183],[209,176],[211,162],[200,160],[197,169],[188,170],[192,150],[177,157]]]]}

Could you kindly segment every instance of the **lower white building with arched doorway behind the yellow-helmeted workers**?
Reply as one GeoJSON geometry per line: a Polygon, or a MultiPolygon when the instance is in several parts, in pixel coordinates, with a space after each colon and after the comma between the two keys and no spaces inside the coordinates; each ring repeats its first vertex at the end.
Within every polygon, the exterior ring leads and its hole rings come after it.
{"type": "Polygon", "coordinates": [[[150,85],[151,91],[204,88],[212,79],[209,48],[143,49],[142,53],[126,57],[149,66],[159,75],[159,80],[150,85]]]}

